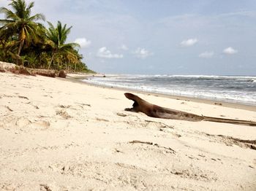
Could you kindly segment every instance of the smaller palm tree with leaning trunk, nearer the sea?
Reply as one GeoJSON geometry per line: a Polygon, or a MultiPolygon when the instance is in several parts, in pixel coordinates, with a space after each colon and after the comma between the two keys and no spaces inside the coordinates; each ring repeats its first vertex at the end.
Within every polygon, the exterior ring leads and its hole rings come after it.
{"type": "Polygon", "coordinates": [[[49,28],[46,32],[46,35],[48,39],[50,40],[51,47],[53,49],[52,57],[50,59],[50,63],[48,65],[48,69],[50,69],[50,65],[53,62],[53,59],[56,57],[56,55],[61,54],[63,55],[73,55],[72,49],[75,47],[80,47],[77,43],[67,43],[67,36],[70,33],[70,30],[72,28],[67,28],[67,24],[62,26],[61,22],[58,21],[56,28],[53,26],[52,23],[48,22],[49,28]]]}

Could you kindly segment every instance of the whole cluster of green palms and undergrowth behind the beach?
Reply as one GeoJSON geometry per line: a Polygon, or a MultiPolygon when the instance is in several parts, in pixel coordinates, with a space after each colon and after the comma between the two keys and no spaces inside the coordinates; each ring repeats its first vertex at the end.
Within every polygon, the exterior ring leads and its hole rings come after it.
{"type": "Polygon", "coordinates": [[[48,22],[45,28],[38,23],[45,21],[44,15],[31,15],[34,2],[10,0],[9,6],[12,9],[0,7],[5,17],[0,19],[0,61],[34,69],[91,72],[76,49],[79,44],[66,43],[72,26],[58,21],[56,27],[48,22]]]}

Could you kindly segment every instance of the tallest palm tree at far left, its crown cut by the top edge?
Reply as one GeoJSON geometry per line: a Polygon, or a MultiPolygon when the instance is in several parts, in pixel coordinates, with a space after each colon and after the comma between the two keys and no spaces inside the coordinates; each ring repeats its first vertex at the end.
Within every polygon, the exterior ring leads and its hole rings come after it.
{"type": "Polygon", "coordinates": [[[0,7],[0,13],[4,13],[5,19],[0,20],[0,37],[10,38],[18,35],[18,53],[16,62],[20,59],[20,52],[24,43],[30,44],[33,40],[37,41],[42,25],[35,23],[37,20],[45,20],[42,14],[31,16],[31,8],[34,2],[26,4],[25,0],[11,0],[9,4],[13,11],[6,7],[0,7]]]}

